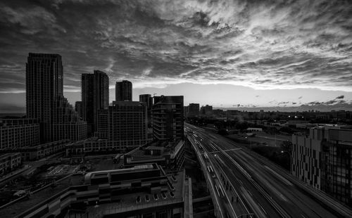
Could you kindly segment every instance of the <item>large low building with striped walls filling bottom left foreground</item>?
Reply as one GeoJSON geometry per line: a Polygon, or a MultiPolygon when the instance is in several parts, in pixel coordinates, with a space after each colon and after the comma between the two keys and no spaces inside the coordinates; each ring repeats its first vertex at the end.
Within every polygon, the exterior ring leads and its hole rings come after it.
{"type": "Polygon", "coordinates": [[[2,208],[8,217],[180,217],[191,218],[191,186],[184,171],[165,174],[156,164],[71,176],[2,208]],[[80,177],[83,177],[82,175],[80,177]],[[70,185],[71,184],[71,185],[70,185]]]}

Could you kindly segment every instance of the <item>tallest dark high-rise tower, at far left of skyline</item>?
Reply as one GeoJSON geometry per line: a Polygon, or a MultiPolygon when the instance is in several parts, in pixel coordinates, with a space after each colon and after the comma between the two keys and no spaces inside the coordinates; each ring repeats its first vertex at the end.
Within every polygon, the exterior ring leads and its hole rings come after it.
{"type": "Polygon", "coordinates": [[[26,63],[26,110],[40,120],[41,141],[50,141],[55,99],[63,95],[63,63],[58,54],[30,53],[26,63]]]}

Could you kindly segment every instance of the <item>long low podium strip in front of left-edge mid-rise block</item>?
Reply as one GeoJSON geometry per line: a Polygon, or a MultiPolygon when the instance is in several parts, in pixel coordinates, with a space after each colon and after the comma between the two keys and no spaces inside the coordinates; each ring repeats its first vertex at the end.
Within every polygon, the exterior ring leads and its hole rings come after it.
{"type": "Polygon", "coordinates": [[[39,160],[46,158],[49,155],[54,155],[55,153],[64,151],[65,145],[67,145],[69,142],[69,140],[63,139],[60,141],[52,141],[37,146],[0,150],[0,153],[20,153],[20,158],[22,161],[39,160]]]}

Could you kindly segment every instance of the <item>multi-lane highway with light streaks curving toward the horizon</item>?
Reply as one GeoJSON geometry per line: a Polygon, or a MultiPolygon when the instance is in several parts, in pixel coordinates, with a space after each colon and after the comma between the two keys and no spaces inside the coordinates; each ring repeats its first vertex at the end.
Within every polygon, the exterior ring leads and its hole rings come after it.
{"type": "Polygon", "coordinates": [[[348,207],[251,150],[190,124],[185,129],[204,149],[225,190],[236,189],[256,217],[352,217],[348,207]]]}

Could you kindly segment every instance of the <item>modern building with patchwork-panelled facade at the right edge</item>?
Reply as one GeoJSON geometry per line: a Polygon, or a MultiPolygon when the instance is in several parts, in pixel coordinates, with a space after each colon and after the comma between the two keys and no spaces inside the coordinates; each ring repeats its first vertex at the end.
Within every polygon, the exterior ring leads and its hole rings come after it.
{"type": "Polygon", "coordinates": [[[324,125],[292,136],[291,172],[352,206],[352,127],[324,125]]]}

